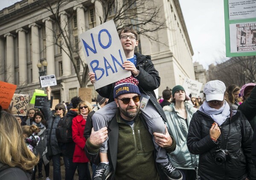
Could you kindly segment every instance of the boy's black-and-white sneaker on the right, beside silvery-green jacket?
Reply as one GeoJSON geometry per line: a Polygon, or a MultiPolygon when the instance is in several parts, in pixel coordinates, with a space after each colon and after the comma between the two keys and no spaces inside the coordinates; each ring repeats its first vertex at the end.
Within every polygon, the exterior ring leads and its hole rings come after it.
{"type": "MultiPolygon", "coordinates": [[[[160,165],[160,164],[159,164],[160,165]]],[[[182,180],[182,174],[168,162],[165,166],[160,165],[160,169],[166,174],[168,180],[182,180]]]]}

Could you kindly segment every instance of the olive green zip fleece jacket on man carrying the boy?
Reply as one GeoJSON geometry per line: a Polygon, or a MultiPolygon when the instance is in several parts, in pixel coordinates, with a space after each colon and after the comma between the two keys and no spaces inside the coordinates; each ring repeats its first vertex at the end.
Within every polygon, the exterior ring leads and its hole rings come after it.
{"type": "MultiPolygon", "coordinates": [[[[116,163],[113,163],[116,166],[113,167],[114,177],[111,179],[160,180],[155,164],[152,136],[143,124],[144,120],[140,113],[134,119],[133,129],[122,121],[119,111],[112,121],[117,122],[119,130],[118,134],[116,134],[118,143],[115,147],[109,146],[108,149],[109,151],[115,151],[117,148],[116,157],[109,157],[112,163],[116,161],[116,163]]],[[[88,140],[86,143],[88,151],[90,153],[98,153],[99,146],[93,146],[90,143],[90,138],[88,140]]],[[[109,138],[108,141],[111,143],[112,139],[109,138]]],[[[174,151],[175,147],[176,143],[174,141],[168,150],[174,151]]]]}

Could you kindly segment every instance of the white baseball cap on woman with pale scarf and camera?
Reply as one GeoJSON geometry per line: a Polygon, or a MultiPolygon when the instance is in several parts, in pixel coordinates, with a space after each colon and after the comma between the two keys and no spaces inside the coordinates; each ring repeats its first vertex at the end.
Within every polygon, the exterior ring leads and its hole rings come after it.
{"type": "Polygon", "coordinates": [[[224,82],[219,80],[209,81],[204,86],[204,94],[206,101],[223,101],[226,86],[224,82]]]}

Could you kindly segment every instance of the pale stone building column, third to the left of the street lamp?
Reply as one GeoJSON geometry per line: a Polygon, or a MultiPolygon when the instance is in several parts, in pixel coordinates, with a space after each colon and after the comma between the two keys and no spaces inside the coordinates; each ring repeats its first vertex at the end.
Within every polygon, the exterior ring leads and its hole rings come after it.
{"type": "Polygon", "coordinates": [[[14,34],[4,34],[6,37],[6,82],[15,83],[15,70],[14,70],[14,34]]]}

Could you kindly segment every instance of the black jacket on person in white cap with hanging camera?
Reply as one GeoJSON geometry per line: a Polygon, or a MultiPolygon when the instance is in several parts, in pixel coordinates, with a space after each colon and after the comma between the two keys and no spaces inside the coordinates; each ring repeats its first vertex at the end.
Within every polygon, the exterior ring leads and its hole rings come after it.
{"type": "Polygon", "coordinates": [[[209,115],[198,110],[189,125],[187,146],[189,152],[199,155],[198,174],[201,180],[244,180],[246,177],[255,180],[256,169],[251,160],[253,130],[246,117],[240,111],[233,110],[231,124],[230,118],[221,124],[217,142],[212,141],[209,135],[213,122],[209,115]],[[218,165],[214,153],[218,147],[226,149],[226,143],[231,158],[218,165]]]}

